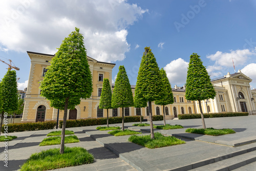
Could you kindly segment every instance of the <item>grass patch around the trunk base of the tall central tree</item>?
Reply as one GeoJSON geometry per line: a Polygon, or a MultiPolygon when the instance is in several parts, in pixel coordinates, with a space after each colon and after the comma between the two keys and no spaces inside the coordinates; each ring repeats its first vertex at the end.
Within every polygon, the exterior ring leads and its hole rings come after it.
{"type": "Polygon", "coordinates": [[[161,133],[155,133],[155,139],[151,139],[150,135],[137,136],[132,135],[128,139],[129,141],[145,146],[147,148],[160,148],[164,146],[172,146],[178,144],[184,144],[185,141],[182,141],[175,137],[163,136],[161,133]]]}

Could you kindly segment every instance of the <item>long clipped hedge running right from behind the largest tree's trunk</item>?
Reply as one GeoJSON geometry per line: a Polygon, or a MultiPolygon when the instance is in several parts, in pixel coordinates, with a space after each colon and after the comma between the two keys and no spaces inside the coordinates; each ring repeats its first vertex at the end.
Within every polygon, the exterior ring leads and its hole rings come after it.
{"type": "MultiPolygon", "coordinates": [[[[143,116],[141,116],[143,120],[143,116]]],[[[139,122],[140,116],[125,116],[124,122],[139,122]]],[[[122,117],[109,117],[109,124],[122,123],[122,117]]],[[[59,127],[61,128],[63,121],[59,121],[59,127]]],[[[80,126],[92,126],[92,125],[104,125],[106,124],[106,118],[87,118],[87,119],[74,119],[67,120],[66,127],[80,127],[80,126]]]]}

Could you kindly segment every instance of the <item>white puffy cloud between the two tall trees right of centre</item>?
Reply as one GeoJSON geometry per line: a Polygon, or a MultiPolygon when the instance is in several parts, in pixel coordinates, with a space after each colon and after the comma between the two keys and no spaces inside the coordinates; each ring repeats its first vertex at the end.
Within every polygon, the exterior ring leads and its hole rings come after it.
{"type": "Polygon", "coordinates": [[[168,63],[164,67],[164,70],[166,71],[170,83],[173,82],[179,86],[182,86],[186,83],[187,68],[188,62],[182,58],[178,58],[168,63]]]}

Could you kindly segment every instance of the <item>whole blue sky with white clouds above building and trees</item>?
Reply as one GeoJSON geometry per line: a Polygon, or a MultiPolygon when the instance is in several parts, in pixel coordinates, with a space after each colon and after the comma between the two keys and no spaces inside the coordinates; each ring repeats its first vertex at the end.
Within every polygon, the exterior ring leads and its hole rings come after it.
{"type": "MultiPolygon", "coordinates": [[[[56,53],[80,28],[88,55],[124,65],[136,84],[144,47],[150,46],[172,87],[186,81],[189,56],[198,53],[211,78],[236,72],[256,88],[256,1],[1,1],[0,59],[11,59],[19,89],[29,77],[26,51],[56,53]]],[[[0,79],[8,66],[0,63],[0,79]]]]}

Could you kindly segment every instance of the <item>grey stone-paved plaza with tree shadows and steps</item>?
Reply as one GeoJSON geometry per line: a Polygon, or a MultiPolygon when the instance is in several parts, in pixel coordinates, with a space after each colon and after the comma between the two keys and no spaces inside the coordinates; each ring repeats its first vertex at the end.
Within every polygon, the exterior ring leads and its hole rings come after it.
{"type": "MultiPolygon", "coordinates": [[[[185,144],[148,149],[127,141],[129,136],[115,137],[108,131],[98,131],[97,126],[73,127],[80,142],[66,146],[81,146],[94,155],[92,164],[66,167],[57,170],[256,170],[256,116],[206,118],[206,127],[230,128],[236,134],[206,136],[185,133],[189,127],[200,128],[201,119],[167,120],[169,124],[180,124],[184,129],[156,130],[164,135],[173,135],[186,141],[185,144]]],[[[142,131],[147,135],[149,126],[125,128],[142,131]]],[[[154,121],[155,125],[163,121],[154,121]]],[[[111,126],[119,124],[112,124],[111,126]]],[[[60,129],[58,129],[60,130],[60,129]]],[[[0,143],[0,170],[18,170],[35,152],[59,147],[38,146],[47,134],[55,130],[9,133],[17,136],[8,144],[8,167],[4,166],[4,142],[0,143]]]]}

